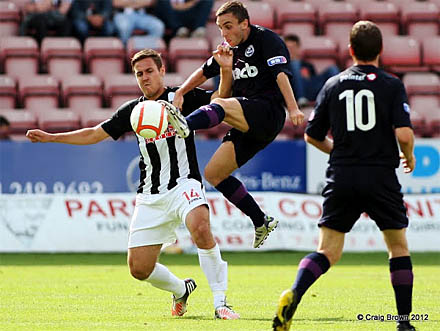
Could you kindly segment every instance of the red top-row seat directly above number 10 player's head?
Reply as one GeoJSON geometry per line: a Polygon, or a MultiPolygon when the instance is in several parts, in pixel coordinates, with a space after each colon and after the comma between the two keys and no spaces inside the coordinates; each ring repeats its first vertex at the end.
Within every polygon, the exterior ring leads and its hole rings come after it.
{"type": "Polygon", "coordinates": [[[392,2],[362,0],[359,10],[360,19],[376,23],[383,35],[399,34],[399,9],[392,2]]]}

